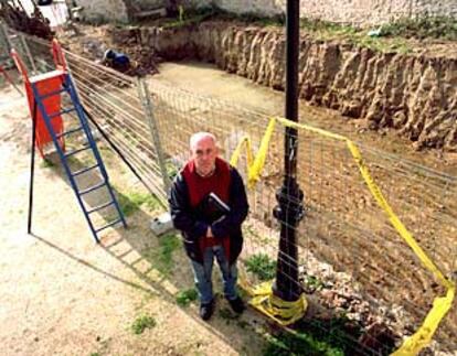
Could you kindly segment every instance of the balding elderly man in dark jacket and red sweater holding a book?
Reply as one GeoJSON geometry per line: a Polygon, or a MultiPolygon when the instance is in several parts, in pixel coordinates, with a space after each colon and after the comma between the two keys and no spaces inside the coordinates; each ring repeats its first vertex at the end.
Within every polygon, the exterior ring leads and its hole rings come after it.
{"type": "Polygon", "coordinates": [[[181,230],[200,295],[200,316],[214,312],[212,269],[214,258],[222,272],[224,294],[233,311],[244,303],[236,292],[236,260],[243,247],[241,225],[248,205],[240,173],[217,157],[216,140],[209,132],[190,139],[191,159],[170,191],[173,225],[181,230]]]}

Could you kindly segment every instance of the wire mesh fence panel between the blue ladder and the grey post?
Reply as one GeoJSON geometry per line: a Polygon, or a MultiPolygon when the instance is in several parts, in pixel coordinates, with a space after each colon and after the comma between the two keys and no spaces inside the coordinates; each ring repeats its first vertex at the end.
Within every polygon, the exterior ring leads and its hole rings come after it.
{"type": "Polygon", "coordinates": [[[158,153],[135,79],[68,53],[67,61],[87,110],[166,204],[158,153]]]}

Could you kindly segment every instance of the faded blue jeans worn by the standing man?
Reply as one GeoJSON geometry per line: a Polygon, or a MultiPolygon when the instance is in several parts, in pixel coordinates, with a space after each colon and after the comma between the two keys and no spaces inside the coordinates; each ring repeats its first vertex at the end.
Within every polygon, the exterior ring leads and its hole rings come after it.
{"type": "Polygon", "coordinates": [[[202,304],[210,303],[213,300],[213,282],[211,277],[213,273],[214,257],[216,258],[222,272],[225,298],[230,300],[237,298],[236,279],[238,272],[236,269],[236,261],[232,266],[228,266],[224,248],[217,245],[205,249],[203,253],[203,265],[192,260],[195,287],[199,291],[200,302],[202,304]]]}

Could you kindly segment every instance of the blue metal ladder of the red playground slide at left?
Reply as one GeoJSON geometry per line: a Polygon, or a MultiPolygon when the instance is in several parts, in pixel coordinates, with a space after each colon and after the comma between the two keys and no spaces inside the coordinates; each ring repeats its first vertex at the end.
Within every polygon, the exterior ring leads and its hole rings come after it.
{"type": "Polygon", "coordinates": [[[46,129],[49,130],[49,132],[52,137],[55,149],[56,149],[56,151],[60,155],[61,162],[62,162],[62,164],[64,166],[64,170],[65,170],[65,173],[68,177],[70,184],[72,185],[72,188],[76,194],[76,198],[77,198],[77,201],[79,203],[79,206],[81,206],[81,208],[84,213],[84,216],[87,220],[87,224],[89,225],[89,228],[91,228],[91,231],[94,236],[94,239],[98,244],[99,242],[98,234],[100,231],[103,231],[104,229],[106,229],[110,226],[115,226],[119,223],[121,223],[124,227],[127,227],[127,224],[126,224],[124,214],[120,209],[119,203],[117,202],[116,196],[113,192],[113,188],[109,184],[108,174],[106,172],[106,169],[105,169],[105,165],[103,163],[102,157],[100,157],[99,151],[97,149],[97,145],[95,143],[95,140],[94,140],[94,137],[92,134],[87,118],[84,114],[83,106],[79,101],[78,95],[76,93],[75,85],[73,83],[73,79],[72,79],[70,73],[65,69],[56,69],[56,71],[50,72],[45,75],[46,75],[47,78],[50,78],[54,75],[55,76],[61,76],[62,77],[62,87],[59,90],[52,91],[50,94],[40,95],[40,93],[36,88],[36,82],[42,76],[31,77],[30,78],[30,84],[31,84],[31,87],[32,87],[32,90],[33,90],[33,96],[34,96],[34,99],[35,99],[35,103],[36,103],[36,108],[40,110],[40,112],[43,117],[46,129]],[[65,94],[65,93],[68,94],[68,96],[71,98],[72,106],[68,107],[68,108],[65,108],[65,109],[63,109],[59,112],[51,112],[51,114],[46,112],[46,108],[43,104],[43,100],[46,99],[46,98],[50,98],[52,96],[60,96],[60,95],[65,94]],[[67,131],[56,133],[53,129],[53,126],[51,125],[52,119],[55,118],[55,117],[59,117],[61,115],[65,115],[65,114],[70,114],[70,112],[76,112],[77,118],[78,118],[78,126],[76,128],[72,128],[67,131]],[[82,144],[81,148],[77,148],[77,149],[75,149],[71,152],[64,152],[61,144],[59,143],[59,139],[61,139],[63,137],[67,137],[67,136],[72,134],[72,133],[75,133],[75,132],[83,132],[85,138],[87,139],[87,142],[82,144]],[[84,152],[84,151],[92,151],[96,163],[91,165],[91,166],[87,166],[87,168],[81,169],[78,171],[72,172],[71,168],[68,165],[68,158],[74,157],[77,153],[84,152]],[[79,190],[77,184],[76,184],[76,177],[82,176],[83,174],[88,173],[91,171],[94,171],[96,169],[98,169],[99,172],[102,173],[102,181],[98,182],[97,184],[91,186],[91,187],[79,190]],[[102,205],[98,205],[96,207],[93,207],[93,208],[88,209],[84,204],[83,196],[91,193],[91,192],[97,191],[97,190],[99,190],[104,186],[108,191],[109,201],[102,204],[102,205]],[[114,220],[108,222],[104,226],[95,227],[94,223],[93,223],[93,219],[92,219],[93,214],[96,213],[96,212],[99,212],[99,211],[102,211],[102,209],[104,209],[108,206],[111,206],[111,205],[114,205],[115,208],[116,208],[117,217],[114,220]]]}

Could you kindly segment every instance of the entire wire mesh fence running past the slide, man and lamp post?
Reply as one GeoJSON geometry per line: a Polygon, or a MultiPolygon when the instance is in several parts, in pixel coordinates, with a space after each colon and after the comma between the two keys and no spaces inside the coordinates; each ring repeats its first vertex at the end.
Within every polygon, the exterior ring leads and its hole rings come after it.
{"type": "MultiPolygon", "coordinates": [[[[49,44],[26,37],[38,71],[51,69],[49,44]]],[[[20,50],[26,55],[26,48],[20,50]]],[[[79,96],[92,116],[138,171],[145,185],[166,205],[167,179],[188,159],[189,138],[211,131],[221,154],[230,159],[248,136],[261,147],[269,118],[246,109],[148,78],[135,78],[66,52],[79,96]],[[152,111],[145,103],[150,93],[152,111]],[[152,122],[152,125],[151,125],[152,122]],[[160,138],[160,144],[153,134],[160,138]]],[[[300,118],[306,121],[306,118],[300,118]]],[[[313,320],[328,332],[329,320],[344,317],[363,327],[382,321],[395,335],[414,333],[445,290],[401,238],[363,181],[344,142],[300,129],[298,182],[306,216],[297,229],[300,287],[331,312],[313,320]]],[[[393,211],[447,278],[457,270],[457,179],[358,143],[372,177],[393,211]]],[[[244,225],[244,278],[258,283],[275,277],[279,223],[272,211],[284,175],[284,127],[277,125],[259,182],[248,192],[251,215],[244,225]],[[262,266],[262,268],[257,268],[262,266]]],[[[246,153],[238,170],[247,179],[246,153]]],[[[351,350],[387,353],[361,342],[359,332],[339,335],[351,350]]],[[[455,350],[454,308],[435,337],[455,350]]]]}

